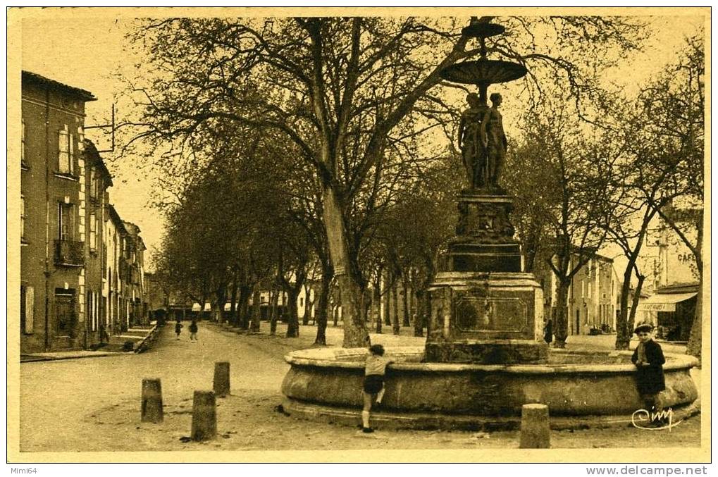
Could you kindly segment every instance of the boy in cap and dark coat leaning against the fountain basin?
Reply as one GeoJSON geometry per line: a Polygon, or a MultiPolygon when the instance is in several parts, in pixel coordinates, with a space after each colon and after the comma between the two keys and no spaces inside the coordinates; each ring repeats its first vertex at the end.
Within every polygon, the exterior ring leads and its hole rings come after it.
{"type": "Polygon", "coordinates": [[[666,389],[666,379],[663,376],[663,356],[661,345],[653,341],[653,325],[648,322],[639,323],[634,333],[638,335],[638,346],[633,351],[631,361],[636,367],[636,386],[638,394],[643,399],[645,410],[660,413],[663,410],[659,394],[666,389]]]}

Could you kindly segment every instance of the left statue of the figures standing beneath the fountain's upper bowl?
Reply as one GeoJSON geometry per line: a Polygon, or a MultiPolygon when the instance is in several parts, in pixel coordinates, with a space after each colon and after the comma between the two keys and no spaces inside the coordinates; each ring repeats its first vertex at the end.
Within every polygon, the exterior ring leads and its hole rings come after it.
{"type": "Polygon", "coordinates": [[[466,167],[469,186],[476,189],[483,187],[485,182],[486,154],[481,142],[481,120],[489,108],[480,103],[476,93],[469,93],[466,101],[469,103],[469,108],[461,114],[459,148],[466,167]]]}

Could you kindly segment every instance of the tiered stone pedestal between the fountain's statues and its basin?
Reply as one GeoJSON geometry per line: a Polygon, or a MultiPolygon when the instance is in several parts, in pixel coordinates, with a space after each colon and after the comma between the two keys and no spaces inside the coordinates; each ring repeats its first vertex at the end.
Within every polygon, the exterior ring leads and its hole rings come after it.
{"type": "Polygon", "coordinates": [[[544,292],[521,272],[521,250],[509,221],[510,196],[480,190],[459,197],[457,236],[449,270],[429,287],[431,315],[426,361],[541,363],[544,292]]]}

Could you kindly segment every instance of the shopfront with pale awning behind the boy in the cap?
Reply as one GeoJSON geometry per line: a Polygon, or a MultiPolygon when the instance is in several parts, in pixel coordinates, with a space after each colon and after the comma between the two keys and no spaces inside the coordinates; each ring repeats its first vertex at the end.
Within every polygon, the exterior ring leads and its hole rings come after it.
{"type": "Polygon", "coordinates": [[[638,320],[656,325],[656,338],[688,341],[696,312],[698,285],[667,287],[638,305],[638,320]]]}

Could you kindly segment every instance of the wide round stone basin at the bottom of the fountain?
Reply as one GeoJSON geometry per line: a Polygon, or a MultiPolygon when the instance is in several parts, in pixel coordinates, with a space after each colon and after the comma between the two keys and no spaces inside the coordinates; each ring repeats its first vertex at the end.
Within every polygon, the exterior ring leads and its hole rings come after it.
{"type": "MultiPolygon", "coordinates": [[[[361,422],[365,348],[323,348],[285,356],[284,411],[294,417],[361,422]]],[[[386,373],[383,405],[372,423],[383,428],[512,430],[521,406],[549,406],[554,429],[631,425],[643,407],[630,351],[551,350],[542,364],[424,363],[424,347],[386,348],[395,363],[386,373]]],[[[673,422],[699,412],[690,369],[696,358],[666,353],[664,407],[673,422]]]]}

